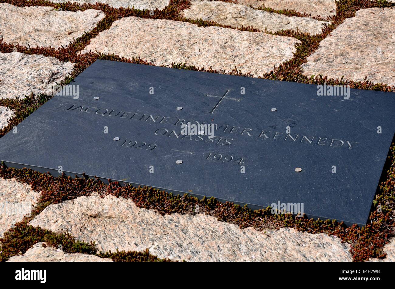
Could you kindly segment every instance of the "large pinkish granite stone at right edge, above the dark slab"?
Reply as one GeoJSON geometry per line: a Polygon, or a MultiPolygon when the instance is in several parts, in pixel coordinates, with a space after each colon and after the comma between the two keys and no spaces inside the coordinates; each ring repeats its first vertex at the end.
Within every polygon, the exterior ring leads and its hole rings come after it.
{"type": "Polygon", "coordinates": [[[395,86],[395,9],[369,8],[340,24],[302,65],[305,75],[327,75],[395,86]]]}

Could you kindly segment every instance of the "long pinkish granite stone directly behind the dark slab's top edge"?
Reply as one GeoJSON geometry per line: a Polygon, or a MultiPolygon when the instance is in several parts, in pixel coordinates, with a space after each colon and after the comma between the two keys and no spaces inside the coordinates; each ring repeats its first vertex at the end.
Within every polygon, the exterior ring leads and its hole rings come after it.
{"type": "MultiPolygon", "coordinates": [[[[172,43],[176,42],[177,41],[175,39],[172,40],[172,43]]],[[[179,42],[180,41],[177,43],[179,42]]],[[[79,53],[86,54],[91,50],[93,52],[96,51],[103,54],[115,54],[124,58],[140,56],[147,62],[157,66],[169,67],[171,63],[185,63],[185,65],[195,67],[211,66],[213,70],[224,70],[227,72],[232,71],[236,63],[239,69],[250,72],[251,76],[258,77],[265,75],[265,73],[269,73],[271,69],[273,69],[273,65],[280,65],[281,63],[292,59],[294,57],[294,53],[297,51],[295,45],[299,43],[301,43],[300,40],[289,36],[273,35],[261,32],[246,32],[218,26],[199,27],[197,24],[184,21],[174,21],[169,19],[142,19],[139,17],[130,16],[113,22],[108,30],[102,31],[99,35],[92,38],[90,44],[83,48],[79,53]],[[123,33],[122,31],[124,31],[122,28],[130,27],[130,25],[136,25],[136,29],[137,27],[147,27],[149,25],[147,30],[153,30],[154,26],[160,25],[161,29],[158,29],[156,34],[149,34],[146,32],[145,34],[139,36],[139,38],[135,37],[135,32],[132,30],[129,32],[124,32],[127,33],[127,35],[138,39],[134,40],[132,43],[125,40],[128,39],[126,36],[124,36],[125,39],[120,41],[121,45],[119,45],[119,43],[115,43],[114,41],[110,43],[108,42],[108,38],[114,37],[114,35],[120,35],[123,33]],[[252,54],[253,52],[246,55],[243,54],[243,49],[245,48],[235,47],[234,45],[232,46],[228,44],[225,48],[222,47],[219,52],[215,51],[217,53],[216,58],[213,58],[212,56],[202,58],[201,56],[196,56],[195,54],[190,53],[190,51],[192,51],[194,48],[199,48],[203,51],[209,51],[213,53],[215,49],[212,48],[212,45],[204,43],[204,41],[191,46],[187,49],[187,52],[184,51],[184,55],[181,56],[176,53],[166,53],[170,51],[170,49],[174,51],[181,51],[181,47],[170,47],[170,44],[167,44],[166,49],[159,47],[159,45],[151,45],[149,48],[141,51],[138,49],[138,45],[136,43],[137,41],[145,41],[146,39],[152,38],[159,34],[162,35],[161,40],[169,39],[170,37],[174,37],[174,31],[176,31],[175,29],[179,29],[178,31],[182,30],[182,32],[180,32],[181,36],[179,38],[184,39],[187,41],[187,43],[188,41],[192,43],[195,39],[201,39],[203,36],[205,39],[211,42],[218,41],[218,39],[223,37],[229,37],[229,39],[232,40],[237,37],[243,37],[246,43],[252,43],[256,40],[259,43],[262,43],[262,45],[257,44],[252,46],[251,50],[253,50],[254,53],[256,52],[255,55],[252,54]],[[279,39],[283,39],[283,41],[279,41],[279,39]],[[271,47],[270,44],[273,44],[274,42],[276,42],[275,44],[277,46],[273,50],[273,47],[271,47]],[[262,48],[264,43],[267,43],[267,47],[265,47],[265,49],[262,48]],[[263,52],[263,50],[265,50],[265,52],[263,52]],[[235,60],[231,60],[230,58],[226,57],[230,54],[234,56],[235,60]],[[255,61],[253,61],[252,58],[254,58],[255,61]],[[260,60],[260,65],[256,63],[257,58],[260,60]]],[[[185,50],[184,47],[182,49],[185,50]]]]}

